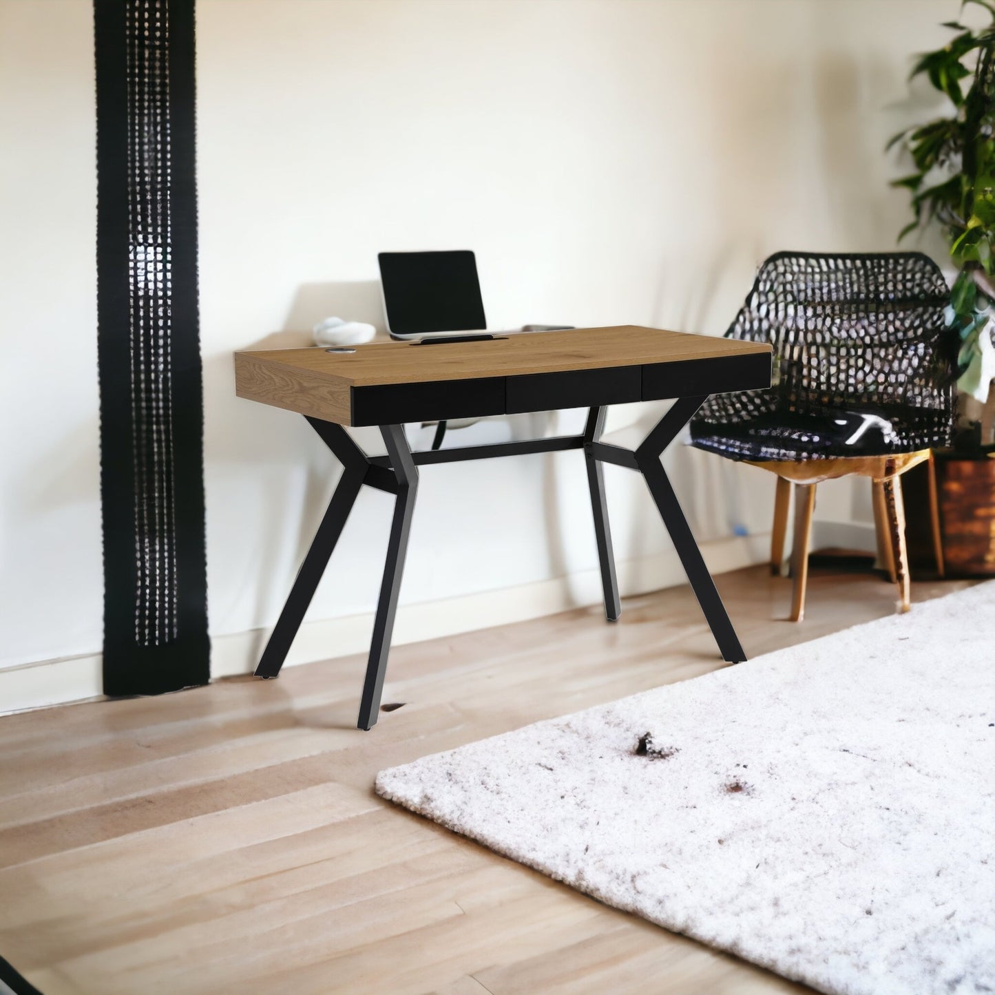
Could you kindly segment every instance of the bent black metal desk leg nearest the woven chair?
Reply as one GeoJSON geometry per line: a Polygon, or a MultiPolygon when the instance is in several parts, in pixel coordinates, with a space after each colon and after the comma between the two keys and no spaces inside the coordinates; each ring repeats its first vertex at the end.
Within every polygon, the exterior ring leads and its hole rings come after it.
{"type": "Polygon", "coordinates": [[[646,441],[636,450],[636,462],[657,504],[660,516],[671,534],[674,547],[681,557],[685,573],[688,574],[688,580],[691,581],[692,589],[695,591],[697,603],[704,612],[722,659],[738,664],[746,659],[746,655],[739,645],[739,639],[718,596],[711,574],[708,573],[708,568],[701,558],[688,519],[685,518],[670,479],[660,462],[664,449],[691,420],[704,401],[704,397],[685,397],[676,401],[657,427],[647,436],[646,441]]]}

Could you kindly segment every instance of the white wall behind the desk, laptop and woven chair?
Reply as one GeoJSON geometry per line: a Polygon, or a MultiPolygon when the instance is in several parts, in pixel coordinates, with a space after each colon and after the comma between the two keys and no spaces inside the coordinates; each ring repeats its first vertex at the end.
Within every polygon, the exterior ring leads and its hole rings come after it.
{"type": "MultiPolygon", "coordinates": [[[[235,398],[233,349],[329,313],[382,323],[374,282],[383,249],[475,249],[497,327],[635,322],[721,333],[770,252],[894,246],[905,205],[888,188],[896,162],[882,147],[922,114],[921,95],[907,97],[909,58],[944,38],[936,24],[956,8],[198,0],[216,673],[251,665],[335,477],[301,419],[235,398]]],[[[90,3],[0,0],[0,16],[0,148],[15,181],[3,185],[0,276],[12,343],[0,666],[91,655],[87,674],[96,674],[90,3]],[[43,390],[28,375],[39,368],[43,390]]],[[[657,414],[620,409],[616,424],[657,414]]],[[[577,418],[488,422],[461,437],[564,430],[577,418]]],[[[712,563],[762,552],[766,475],[687,450],[668,463],[712,563]],[[759,538],[729,542],[734,530],[759,538]]],[[[625,583],[680,579],[640,482],[616,468],[607,475],[625,583]]],[[[402,612],[401,638],[596,596],[576,454],[428,468],[422,480],[402,603],[437,608],[402,612]],[[504,594],[481,593],[497,589],[504,594]]],[[[362,645],[389,513],[386,496],[360,498],[308,616],[347,621],[312,626],[298,658],[362,645]]],[[[824,489],[819,514],[870,517],[848,484],[824,489]]]]}

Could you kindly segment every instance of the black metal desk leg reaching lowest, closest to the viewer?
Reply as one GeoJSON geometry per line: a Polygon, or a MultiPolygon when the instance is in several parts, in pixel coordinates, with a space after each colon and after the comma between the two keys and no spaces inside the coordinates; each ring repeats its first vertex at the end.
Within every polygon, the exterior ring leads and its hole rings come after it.
{"type": "Polygon", "coordinates": [[[383,568],[383,583],[380,585],[380,600],[377,602],[376,619],[373,623],[366,681],[363,684],[363,697],[359,704],[357,725],[360,729],[373,728],[380,710],[383,680],[387,673],[387,655],[390,653],[390,637],[394,630],[394,615],[397,612],[397,596],[401,590],[404,556],[408,549],[408,532],[411,529],[415,496],[418,492],[418,468],[411,455],[408,440],[404,436],[404,427],[384,425],[380,433],[387,445],[390,465],[397,480],[397,498],[394,504],[394,519],[390,525],[387,561],[383,568]]]}

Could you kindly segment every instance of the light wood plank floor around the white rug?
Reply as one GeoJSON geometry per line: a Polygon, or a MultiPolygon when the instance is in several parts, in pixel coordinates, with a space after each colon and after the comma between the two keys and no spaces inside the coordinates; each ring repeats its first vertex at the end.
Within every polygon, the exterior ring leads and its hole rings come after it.
{"type": "MultiPolygon", "coordinates": [[[[963,583],[914,584],[921,601],[963,583]]],[[[890,614],[815,568],[718,578],[750,655],[890,614]]],[[[914,605],[913,605],[914,611],[914,605]]],[[[688,588],[362,661],[0,718],[0,954],[45,995],[799,992],[381,801],[380,768],[722,666],[688,588]]]]}

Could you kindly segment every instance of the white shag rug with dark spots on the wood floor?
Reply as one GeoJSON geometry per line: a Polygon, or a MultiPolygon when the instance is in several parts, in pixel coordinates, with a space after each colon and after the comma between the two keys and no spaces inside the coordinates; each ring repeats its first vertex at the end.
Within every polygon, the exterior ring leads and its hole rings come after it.
{"type": "Polygon", "coordinates": [[[995,582],[376,790],[823,992],[995,992],[995,582]]]}

